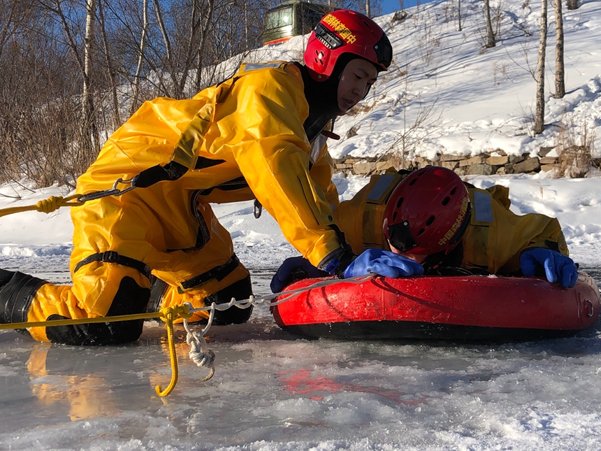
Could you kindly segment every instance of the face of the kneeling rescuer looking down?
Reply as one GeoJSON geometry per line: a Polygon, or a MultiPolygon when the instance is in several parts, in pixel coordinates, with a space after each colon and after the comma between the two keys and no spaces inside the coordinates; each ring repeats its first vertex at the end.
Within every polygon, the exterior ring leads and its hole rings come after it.
{"type": "Polygon", "coordinates": [[[377,70],[365,59],[351,59],[340,76],[338,83],[338,109],[345,114],[370,90],[377,78],[377,70]]]}

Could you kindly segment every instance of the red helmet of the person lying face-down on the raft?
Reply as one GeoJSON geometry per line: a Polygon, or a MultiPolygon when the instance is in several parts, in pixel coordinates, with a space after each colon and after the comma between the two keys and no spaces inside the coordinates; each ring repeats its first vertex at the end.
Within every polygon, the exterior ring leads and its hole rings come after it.
{"type": "Polygon", "coordinates": [[[450,169],[427,166],[410,173],[384,210],[384,235],[391,247],[415,255],[448,254],[470,222],[470,196],[450,169]]]}

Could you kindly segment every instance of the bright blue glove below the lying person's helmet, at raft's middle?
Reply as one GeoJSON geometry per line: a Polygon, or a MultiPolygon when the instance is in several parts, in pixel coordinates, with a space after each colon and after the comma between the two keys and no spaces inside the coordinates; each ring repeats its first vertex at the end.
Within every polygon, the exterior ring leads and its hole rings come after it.
{"type": "Polygon", "coordinates": [[[365,250],[345,269],[345,278],[375,273],[384,277],[423,274],[423,266],[407,257],[382,249],[365,250]]]}

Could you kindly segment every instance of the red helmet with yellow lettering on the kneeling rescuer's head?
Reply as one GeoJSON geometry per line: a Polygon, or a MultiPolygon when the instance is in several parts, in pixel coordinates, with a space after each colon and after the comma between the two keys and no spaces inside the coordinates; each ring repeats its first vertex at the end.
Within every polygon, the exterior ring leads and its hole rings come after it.
{"type": "Polygon", "coordinates": [[[392,45],[384,31],[369,17],[348,9],[339,9],[321,18],[309,36],[305,65],[325,81],[334,70],[338,57],[352,53],[387,71],[392,61],[392,45]]]}

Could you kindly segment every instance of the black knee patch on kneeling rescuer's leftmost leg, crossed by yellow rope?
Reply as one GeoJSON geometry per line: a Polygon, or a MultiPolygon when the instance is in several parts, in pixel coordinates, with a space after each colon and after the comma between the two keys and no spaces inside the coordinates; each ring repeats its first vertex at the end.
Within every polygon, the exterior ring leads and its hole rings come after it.
{"type": "MultiPolygon", "coordinates": [[[[106,316],[145,313],[150,289],[138,285],[131,277],[121,280],[113,303],[106,316]]],[[[61,315],[50,315],[48,320],[65,320],[61,315]]],[[[46,327],[46,336],[52,343],[66,345],[120,345],[140,338],[144,320],[95,322],[72,326],[46,327]]]]}

